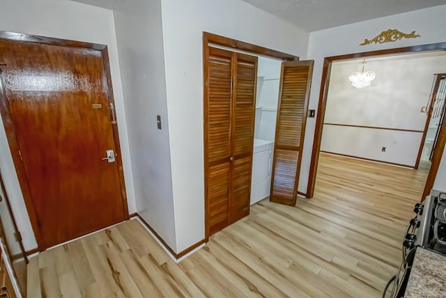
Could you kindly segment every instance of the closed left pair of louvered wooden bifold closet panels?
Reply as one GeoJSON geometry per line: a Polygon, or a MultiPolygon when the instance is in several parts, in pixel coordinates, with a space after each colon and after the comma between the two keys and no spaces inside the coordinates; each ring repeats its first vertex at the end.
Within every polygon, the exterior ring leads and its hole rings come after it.
{"type": "Polygon", "coordinates": [[[206,237],[249,214],[257,57],[206,47],[206,237]]]}

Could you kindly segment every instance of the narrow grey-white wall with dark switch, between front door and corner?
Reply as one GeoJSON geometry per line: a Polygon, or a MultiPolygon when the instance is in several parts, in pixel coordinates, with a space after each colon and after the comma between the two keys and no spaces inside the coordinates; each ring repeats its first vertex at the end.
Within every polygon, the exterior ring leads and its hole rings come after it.
{"type": "Polygon", "coordinates": [[[137,211],[175,248],[161,2],[127,1],[114,8],[114,17],[137,211]]]}

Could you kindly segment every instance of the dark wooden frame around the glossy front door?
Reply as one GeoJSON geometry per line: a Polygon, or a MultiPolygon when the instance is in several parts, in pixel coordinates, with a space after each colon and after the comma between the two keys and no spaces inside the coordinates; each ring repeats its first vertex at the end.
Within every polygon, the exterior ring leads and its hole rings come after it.
{"type": "MultiPolygon", "coordinates": [[[[108,54],[107,45],[99,45],[99,44],[95,44],[95,43],[84,43],[84,42],[75,41],[75,40],[50,38],[50,37],[45,37],[45,36],[36,36],[36,35],[31,35],[31,34],[15,33],[15,32],[8,32],[8,31],[0,31],[0,40],[10,40],[10,41],[23,42],[23,43],[36,43],[39,45],[57,45],[57,46],[63,46],[63,47],[76,47],[76,48],[85,48],[85,49],[89,49],[89,50],[100,51],[102,53],[102,61],[104,63],[104,71],[105,71],[105,76],[107,78],[107,93],[108,93],[107,99],[108,99],[109,104],[112,104],[114,107],[116,107],[116,105],[114,103],[112,76],[110,75],[109,54],[108,54]]],[[[1,66],[1,61],[0,61],[0,66],[1,66]]],[[[3,87],[1,86],[1,80],[0,80],[0,87],[1,87],[0,89],[3,90],[3,87]]],[[[111,119],[116,119],[116,118],[113,118],[113,117],[116,117],[116,109],[111,110],[110,112],[111,112],[111,115],[110,115],[111,119]],[[114,113],[114,114],[112,114],[112,113],[114,113]]],[[[12,121],[12,118],[10,117],[8,103],[7,103],[5,94],[3,94],[3,91],[0,91],[0,114],[3,119],[3,125],[5,126],[6,137],[8,138],[10,152],[11,152],[11,155],[13,156],[15,171],[17,172],[17,178],[19,180],[20,188],[22,190],[26,209],[28,211],[29,219],[31,221],[31,226],[33,228],[34,235],[36,237],[38,251],[45,251],[45,249],[48,247],[45,247],[45,244],[43,241],[43,234],[42,234],[40,225],[38,223],[38,217],[36,214],[36,209],[33,204],[28,177],[26,175],[26,172],[24,169],[24,164],[22,163],[22,159],[20,158],[19,144],[17,142],[17,136],[15,135],[13,121],[12,121]]],[[[122,163],[122,156],[121,156],[121,143],[119,141],[119,134],[118,134],[118,124],[116,123],[116,121],[111,121],[111,125],[112,125],[113,137],[114,137],[114,146],[115,146],[116,154],[117,154],[116,163],[118,163],[118,176],[119,176],[119,183],[120,183],[120,188],[121,188],[121,199],[123,201],[124,218],[125,218],[125,220],[128,220],[129,219],[128,202],[127,202],[127,194],[125,191],[125,180],[124,180],[123,163],[122,163]]]]}

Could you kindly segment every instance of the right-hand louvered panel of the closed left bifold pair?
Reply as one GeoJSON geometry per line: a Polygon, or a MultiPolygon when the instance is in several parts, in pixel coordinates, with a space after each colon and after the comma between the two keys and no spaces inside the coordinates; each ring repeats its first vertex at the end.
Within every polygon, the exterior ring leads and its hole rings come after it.
{"type": "Polygon", "coordinates": [[[249,214],[258,60],[246,54],[234,56],[233,189],[229,200],[229,223],[249,214]]]}

